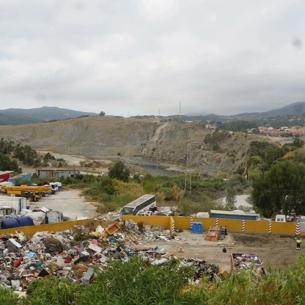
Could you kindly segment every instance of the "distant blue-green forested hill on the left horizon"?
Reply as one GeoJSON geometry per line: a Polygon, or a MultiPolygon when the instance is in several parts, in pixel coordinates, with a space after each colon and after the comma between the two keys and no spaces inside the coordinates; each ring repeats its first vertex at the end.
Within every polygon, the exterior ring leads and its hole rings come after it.
{"type": "Polygon", "coordinates": [[[20,125],[41,123],[50,120],[77,118],[82,115],[98,115],[92,112],[82,112],[58,107],[41,107],[32,109],[9,108],[0,110],[0,125],[20,125]]]}

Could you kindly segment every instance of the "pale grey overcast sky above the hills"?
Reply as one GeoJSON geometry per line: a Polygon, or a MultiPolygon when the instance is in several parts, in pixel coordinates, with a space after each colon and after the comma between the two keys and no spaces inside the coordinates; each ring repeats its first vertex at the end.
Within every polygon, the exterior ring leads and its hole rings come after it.
{"type": "Polygon", "coordinates": [[[305,98],[305,1],[0,1],[0,109],[127,116],[305,98]]]}

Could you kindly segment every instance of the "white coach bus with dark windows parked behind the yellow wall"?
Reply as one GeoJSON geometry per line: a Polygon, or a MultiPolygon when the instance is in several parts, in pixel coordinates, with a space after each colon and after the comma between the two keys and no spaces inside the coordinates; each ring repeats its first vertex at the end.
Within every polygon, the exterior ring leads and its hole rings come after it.
{"type": "Polygon", "coordinates": [[[148,212],[149,209],[156,206],[155,195],[143,195],[140,198],[126,204],[121,210],[121,215],[136,216],[139,213],[148,212]]]}

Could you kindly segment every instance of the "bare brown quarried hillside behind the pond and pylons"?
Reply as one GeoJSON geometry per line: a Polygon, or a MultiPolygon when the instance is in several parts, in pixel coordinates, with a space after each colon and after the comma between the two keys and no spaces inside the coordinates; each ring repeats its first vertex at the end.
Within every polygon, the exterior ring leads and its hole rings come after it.
{"type": "MultiPolygon", "coordinates": [[[[159,164],[183,171],[189,131],[192,132],[194,173],[232,174],[247,161],[254,134],[236,133],[219,143],[217,151],[204,138],[211,130],[199,123],[158,123],[152,119],[85,117],[51,123],[0,126],[0,137],[41,151],[82,155],[86,158],[125,158],[129,142],[131,163],[159,164]]],[[[265,138],[261,138],[264,141],[265,138]]]]}

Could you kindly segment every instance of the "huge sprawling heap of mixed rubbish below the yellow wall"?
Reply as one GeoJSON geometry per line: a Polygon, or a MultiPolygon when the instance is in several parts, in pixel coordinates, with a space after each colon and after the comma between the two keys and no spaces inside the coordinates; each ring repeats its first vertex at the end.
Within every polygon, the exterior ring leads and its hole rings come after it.
{"type": "MultiPolygon", "coordinates": [[[[177,237],[177,236],[176,236],[177,237]]],[[[175,238],[168,230],[142,226],[132,220],[109,222],[98,218],[63,232],[36,232],[32,238],[23,232],[0,236],[0,288],[27,291],[37,278],[56,275],[60,279],[84,285],[96,274],[94,268],[107,268],[110,258],[128,261],[140,255],[144,261],[163,265],[175,258],[180,265],[193,266],[190,282],[199,284],[202,277],[217,278],[215,270],[199,259],[180,259],[158,247],[139,250],[141,240],[166,242],[175,238]],[[214,272],[215,271],[215,272],[214,272]]],[[[219,272],[218,275],[227,275],[219,272]]]]}

